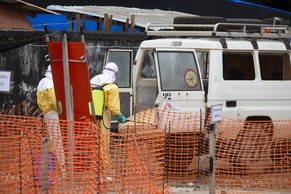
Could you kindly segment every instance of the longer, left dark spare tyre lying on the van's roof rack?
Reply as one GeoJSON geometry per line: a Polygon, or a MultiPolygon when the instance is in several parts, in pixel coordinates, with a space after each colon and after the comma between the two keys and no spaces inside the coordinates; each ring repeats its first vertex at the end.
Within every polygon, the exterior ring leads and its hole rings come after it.
{"type": "MultiPolygon", "coordinates": [[[[175,17],[173,24],[216,24],[225,22],[223,17],[200,17],[200,16],[179,16],[175,17]]],[[[180,27],[175,26],[175,30],[211,30],[213,27],[180,27]]]]}

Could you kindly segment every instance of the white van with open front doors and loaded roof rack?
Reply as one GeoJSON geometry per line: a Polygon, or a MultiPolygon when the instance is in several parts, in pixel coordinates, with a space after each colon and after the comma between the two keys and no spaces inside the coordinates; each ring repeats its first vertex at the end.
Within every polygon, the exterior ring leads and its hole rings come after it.
{"type": "Polygon", "coordinates": [[[201,23],[149,24],[132,65],[132,51],[108,51],[106,60],[126,72],[125,115],[140,105],[205,118],[222,104],[224,118],[291,119],[290,26],[201,23]]]}

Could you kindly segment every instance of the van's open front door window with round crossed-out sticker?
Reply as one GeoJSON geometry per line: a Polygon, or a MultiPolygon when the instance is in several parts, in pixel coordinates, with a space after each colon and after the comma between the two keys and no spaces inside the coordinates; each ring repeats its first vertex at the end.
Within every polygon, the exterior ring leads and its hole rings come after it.
{"type": "Polygon", "coordinates": [[[157,52],[163,91],[201,90],[200,75],[193,52],[157,52]]]}

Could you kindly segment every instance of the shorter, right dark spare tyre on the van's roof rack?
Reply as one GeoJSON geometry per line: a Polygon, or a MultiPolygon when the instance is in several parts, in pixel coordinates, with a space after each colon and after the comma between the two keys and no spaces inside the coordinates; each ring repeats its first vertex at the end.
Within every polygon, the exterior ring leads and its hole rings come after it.
{"type": "MultiPolygon", "coordinates": [[[[234,23],[234,24],[263,24],[263,21],[260,19],[251,19],[251,18],[227,18],[226,23],[234,23]]],[[[247,26],[247,33],[259,33],[261,27],[260,26],[247,26]]],[[[243,31],[243,25],[238,26],[227,26],[227,31],[243,31]]]]}

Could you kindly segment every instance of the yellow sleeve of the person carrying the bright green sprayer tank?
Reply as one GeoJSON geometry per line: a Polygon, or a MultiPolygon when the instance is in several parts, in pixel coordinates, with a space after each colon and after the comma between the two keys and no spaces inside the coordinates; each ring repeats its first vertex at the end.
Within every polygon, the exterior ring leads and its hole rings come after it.
{"type": "Polygon", "coordinates": [[[108,108],[113,115],[120,113],[119,90],[116,84],[107,84],[103,87],[105,95],[105,107],[108,108]]]}

